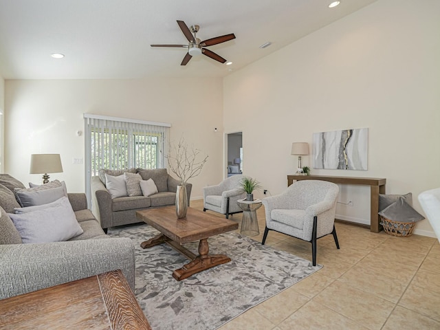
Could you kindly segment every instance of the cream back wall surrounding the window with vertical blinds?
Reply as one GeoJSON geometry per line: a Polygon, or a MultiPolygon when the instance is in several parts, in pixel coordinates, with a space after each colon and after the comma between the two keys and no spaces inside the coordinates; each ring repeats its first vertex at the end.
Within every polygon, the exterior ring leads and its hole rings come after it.
{"type": "Polygon", "coordinates": [[[209,155],[201,175],[190,180],[192,197],[201,198],[203,186],[223,177],[222,95],[219,78],[6,80],[5,173],[38,183],[41,175],[28,174],[30,155],[60,153],[64,172],[51,178],[83,192],[85,167],[73,164],[85,152],[84,135],[76,136],[84,131],[83,113],[170,122],[171,140],[183,134],[209,155]]]}

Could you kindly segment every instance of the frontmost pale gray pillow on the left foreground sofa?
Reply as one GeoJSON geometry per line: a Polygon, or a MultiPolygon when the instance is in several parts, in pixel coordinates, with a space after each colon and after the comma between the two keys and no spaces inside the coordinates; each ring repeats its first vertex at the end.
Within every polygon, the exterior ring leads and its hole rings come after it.
{"type": "Polygon", "coordinates": [[[55,206],[39,206],[37,210],[8,214],[20,233],[23,243],[61,242],[83,234],[67,197],[55,206]]]}

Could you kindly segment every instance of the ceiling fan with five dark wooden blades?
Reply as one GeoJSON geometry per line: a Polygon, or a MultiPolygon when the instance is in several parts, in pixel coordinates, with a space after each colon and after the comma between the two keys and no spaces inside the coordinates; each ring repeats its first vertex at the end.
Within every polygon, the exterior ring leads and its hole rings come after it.
{"type": "Polygon", "coordinates": [[[197,56],[200,54],[203,54],[205,56],[208,56],[212,58],[215,61],[219,61],[220,63],[225,63],[226,60],[219,56],[218,54],[215,54],[214,52],[211,52],[210,50],[207,50],[204,47],[217,45],[219,43],[224,43],[225,41],[230,41],[232,39],[235,39],[235,35],[233,33],[231,34],[225,34],[224,36],[216,36],[215,38],[206,39],[205,41],[200,41],[199,38],[197,38],[196,34],[199,32],[199,25],[191,25],[190,28],[185,24],[184,21],[177,21],[177,24],[179,24],[179,28],[181,32],[184,32],[184,35],[186,36],[186,39],[188,39],[188,45],[151,45],[151,47],[184,47],[188,48],[188,53],[186,53],[183,61],[181,61],[180,65],[186,65],[192,56],[197,56]]]}

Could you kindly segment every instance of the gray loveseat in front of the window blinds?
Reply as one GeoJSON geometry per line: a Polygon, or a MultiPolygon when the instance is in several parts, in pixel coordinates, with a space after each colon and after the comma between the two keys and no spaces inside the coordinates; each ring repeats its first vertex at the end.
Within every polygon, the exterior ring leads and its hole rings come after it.
{"type": "MultiPolygon", "coordinates": [[[[118,225],[128,225],[140,222],[136,218],[137,210],[157,208],[161,206],[175,205],[177,186],[179,180],[168,175],[166,168],[143,169],[131,168],[129,170],[100,170],[99,175],[91,177],[91,209],[99,219],[101,227],[107,232],[107,228],[118,225]],[[143,180],[153,179],[158,192],[146,196],[126,196],[111,198],[109,190],[105,186],[104,173],[118,176],[124,172],[139,173],[143,180]]],[[[192,184],[186,184],[188,206],[190,202],[192,184]]]]}

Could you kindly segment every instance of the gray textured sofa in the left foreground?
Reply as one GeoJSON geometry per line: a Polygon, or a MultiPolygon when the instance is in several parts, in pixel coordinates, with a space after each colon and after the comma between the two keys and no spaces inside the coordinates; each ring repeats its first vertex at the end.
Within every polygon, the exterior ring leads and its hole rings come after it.
{"type": "Polygon", "coordinates": [[[134,291],[133,243],[104,234],[87,210],[85,194],[68,194],[83,234],[63,242],[21,243],[21,236],[5,211],[14,210],[15,201],[10,199],[8,189],[13,190],[19,182],[12,178],[12,185],[8,186],[5,181],[10,178],[0,174],[0,299],[118,269],[134,291]]]}

